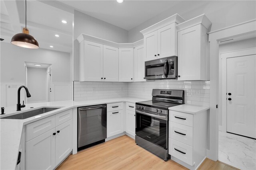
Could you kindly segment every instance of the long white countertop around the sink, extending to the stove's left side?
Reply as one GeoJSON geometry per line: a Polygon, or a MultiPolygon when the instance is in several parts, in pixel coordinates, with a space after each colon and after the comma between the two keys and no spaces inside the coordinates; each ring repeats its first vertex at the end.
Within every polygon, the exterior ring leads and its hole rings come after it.
{"type": "Polygon", "coordinates": [[[108,104],[116,102],[142,102],[148,99],[140,98],[112,98],[112,99],[102,99],[102,100],[90,100],[90,101],[61,101],[61,102],[44,102],[44,103],[34,103],[26,104],[26,107],[22,108],[22,111],[16,111],[16,106],[5,107],[5,115],[0,115],[0,118],[15,115],[18,113],[23,113],[33,109],[38,109],[42,107],[61,107],[54,111],[49,111],[47,113],[40,114],[41,117],[30,117],[28,119],[0,119],[0,169],[1,170],[14,170],[16,167],[18,159],[18,150],[20,147],[20,139],[22,134],[22,128],[24,125],[38,121],[45,117],[55,115],[62,111],[72,109],[74,107],[80,106],[90,106],[97,104],[108,104]],[[30,109],[30,107],[34,107],[30,109]]]}

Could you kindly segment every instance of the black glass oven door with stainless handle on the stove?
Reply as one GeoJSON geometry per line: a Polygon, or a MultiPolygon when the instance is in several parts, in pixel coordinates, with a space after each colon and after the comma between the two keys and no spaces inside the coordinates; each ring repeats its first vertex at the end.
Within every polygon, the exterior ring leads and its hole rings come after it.
{"type": "Polygon", "coordinates": [[[136,135],[167,149],[168,115],[136,109],[136,135]]]}

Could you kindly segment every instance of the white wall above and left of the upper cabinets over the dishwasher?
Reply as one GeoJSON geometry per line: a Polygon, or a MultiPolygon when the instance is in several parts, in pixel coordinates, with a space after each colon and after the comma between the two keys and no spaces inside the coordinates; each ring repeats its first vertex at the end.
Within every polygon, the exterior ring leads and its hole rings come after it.
{"type": "Polygon", "coordinates": [[[81,34],[107,39],[116,43],[128,42],[128,31],[93,18],[82,12],[74,11],[74,80],[79,80],[79,43],[76,38],[81,34]]]}

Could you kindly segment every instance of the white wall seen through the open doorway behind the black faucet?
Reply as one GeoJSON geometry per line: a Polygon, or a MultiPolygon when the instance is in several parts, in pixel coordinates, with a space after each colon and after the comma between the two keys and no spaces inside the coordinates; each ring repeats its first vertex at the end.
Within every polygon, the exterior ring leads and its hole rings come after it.
{"type": "Polygon", "coordinates": [[[27,88],[31,97],[28,103],[46,102],[46,68],[28,67],[27,88]]]}

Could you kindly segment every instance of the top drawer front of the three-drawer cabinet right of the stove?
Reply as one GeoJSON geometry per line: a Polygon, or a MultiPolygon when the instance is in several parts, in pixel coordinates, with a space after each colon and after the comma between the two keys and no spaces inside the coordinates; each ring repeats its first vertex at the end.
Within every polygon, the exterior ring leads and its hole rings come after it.
{"type": "Polygon", "coordinates": [[[192,114],[170,110],[169,116],[170,116],[170,119],[169,119],[170,121],[193,127],[194,115],[192,114]]]}

